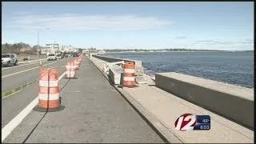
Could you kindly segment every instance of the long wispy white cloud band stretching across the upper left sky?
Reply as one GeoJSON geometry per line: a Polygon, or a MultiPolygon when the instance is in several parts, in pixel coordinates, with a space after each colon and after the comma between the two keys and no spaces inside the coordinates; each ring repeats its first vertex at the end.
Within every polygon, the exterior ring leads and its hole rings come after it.
{"type": "Polygon", "coordinates": [[[130,15],[102,16],[82,14],[19,15],[5,22],[6,28],[40,30],[148,30],[169,26],[169,20],[130,15]]]}

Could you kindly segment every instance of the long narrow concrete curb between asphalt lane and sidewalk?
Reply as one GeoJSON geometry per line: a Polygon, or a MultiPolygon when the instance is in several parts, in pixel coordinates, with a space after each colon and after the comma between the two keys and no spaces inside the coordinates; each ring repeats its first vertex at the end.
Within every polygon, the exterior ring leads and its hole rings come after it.
{"type": "MultiPolygon", "coordinates": [[[[106,74],[103,74],[102,71],[96,64],[90,59],[91,63],[98,69],[98,71],[108,80],[108,77],[106,74]]],[[[114,86],[111,84],[111,86],[114,87],[115,90],[118,91],[119,94],[122,95],[123,98],[126,99],[126,102],[130,104],[134,108],[134,110],[146,121],[147,124],[164,140],[166,143],[184,143],[178,136],[174,135],[166,126],[162,124],[162,122],[159,122],[157,118],[154,117],[153,114],[151,114],[148,110],[146,110],[140,103],[138,103],[134,98],[130,96],[125,90],[122,90],[122,88],[118,88],[118,86],[114,86]]]]}

